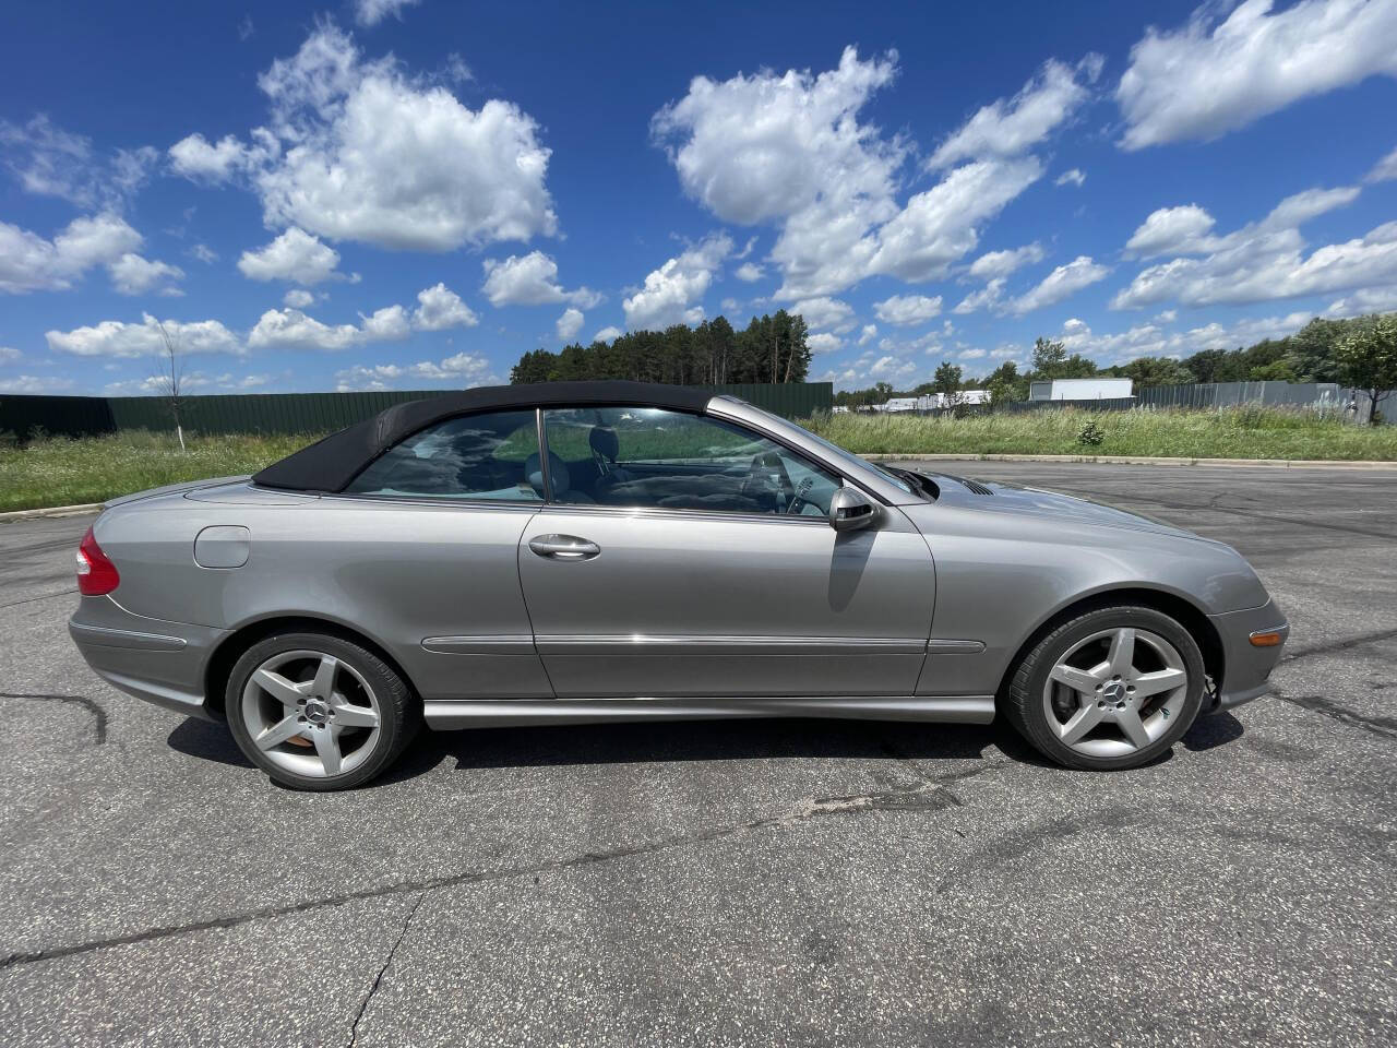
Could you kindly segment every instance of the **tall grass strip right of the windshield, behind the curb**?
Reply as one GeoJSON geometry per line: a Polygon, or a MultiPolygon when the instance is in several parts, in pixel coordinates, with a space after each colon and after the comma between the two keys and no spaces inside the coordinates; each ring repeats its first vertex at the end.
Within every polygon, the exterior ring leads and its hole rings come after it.
{"type": "Polygon", "coordinates": [[[1397,426],[1355,426],[1281,408],[1182,411],[1077,408],[971,418],[820,415],[803,426],[855,454],[1066,454],[1179,458],[1397,460],[1397,426]],[[1080,442],[1095,421],[1099,443],[1080,442]]]}

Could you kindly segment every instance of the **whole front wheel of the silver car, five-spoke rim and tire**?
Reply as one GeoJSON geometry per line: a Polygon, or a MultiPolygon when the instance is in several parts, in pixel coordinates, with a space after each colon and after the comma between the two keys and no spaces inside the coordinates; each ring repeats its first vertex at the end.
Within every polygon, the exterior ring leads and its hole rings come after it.
{"type": "Polygon", "coordinates": [[[1197,641],[1153,608],[1099,608],[1052,630],[1024,657],[1006,697],[1018,732],[1066,767],[1146,764],[1203,703],[1197,641]]]}

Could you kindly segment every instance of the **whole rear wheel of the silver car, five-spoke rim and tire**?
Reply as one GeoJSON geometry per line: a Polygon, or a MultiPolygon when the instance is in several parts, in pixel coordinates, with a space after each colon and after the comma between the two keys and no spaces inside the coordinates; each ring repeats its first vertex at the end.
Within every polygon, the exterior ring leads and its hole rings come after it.
{"type": "Polygon", "coordinates": [[[225,693],[239,749],[293,789],[351,789],[397,760],[418,727],[412,693],[372,651],[323,633],[253,644],[225,693]]]}

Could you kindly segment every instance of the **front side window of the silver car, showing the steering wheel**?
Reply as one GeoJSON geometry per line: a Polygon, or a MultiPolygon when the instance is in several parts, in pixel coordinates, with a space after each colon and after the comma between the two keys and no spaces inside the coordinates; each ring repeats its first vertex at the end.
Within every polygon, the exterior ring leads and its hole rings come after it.
{"type": "Polygon", "coordinates": [[[659,408],[543,412],[553,502],[824,516],[840,478],[773,440],[659,408]]]}

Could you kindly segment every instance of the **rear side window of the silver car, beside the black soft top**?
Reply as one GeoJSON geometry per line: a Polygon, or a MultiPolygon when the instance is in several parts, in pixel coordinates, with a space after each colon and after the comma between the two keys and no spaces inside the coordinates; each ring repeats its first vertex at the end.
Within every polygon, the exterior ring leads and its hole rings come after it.
{"type": "Polygon", "coordinates": [[[437,422],[388,449],[346,490],[430,499],[542,502],[532,411],[496,411],[437,422]]]}

